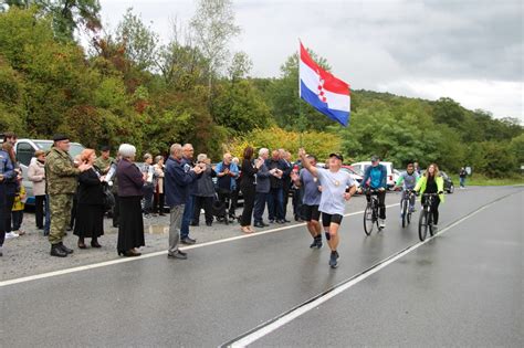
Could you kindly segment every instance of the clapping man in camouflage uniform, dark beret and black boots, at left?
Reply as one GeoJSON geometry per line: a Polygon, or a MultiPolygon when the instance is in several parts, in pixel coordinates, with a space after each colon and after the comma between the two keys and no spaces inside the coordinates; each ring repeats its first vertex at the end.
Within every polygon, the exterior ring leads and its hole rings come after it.
{"type": "Polygon", "coordinates": [[[73,194],[77,184],[76,177],[91,166],[86,164],[75,166],[69,154],[70,140],[66,136],[55,135],[53,141],[53,147],[45,158],[45,180],[51,211],[49,242],[52,256],[65,257],[73,253],[73,250],[66,247],[62,240],[71,220],[73,194]]]}

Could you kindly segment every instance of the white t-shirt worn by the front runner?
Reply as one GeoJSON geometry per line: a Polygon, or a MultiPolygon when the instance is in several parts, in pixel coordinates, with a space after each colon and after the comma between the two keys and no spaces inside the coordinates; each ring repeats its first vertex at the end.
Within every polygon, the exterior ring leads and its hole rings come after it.
{"type": "Polygon", "coordinates": [[[344,215],[346,200],[344,193],[347,187],[355,184],[352,176],[345,170],[337,172],[328,169],[317,168],[318,180],[322,184],[321,205],[318,210],[327,214],[344,215]]]}

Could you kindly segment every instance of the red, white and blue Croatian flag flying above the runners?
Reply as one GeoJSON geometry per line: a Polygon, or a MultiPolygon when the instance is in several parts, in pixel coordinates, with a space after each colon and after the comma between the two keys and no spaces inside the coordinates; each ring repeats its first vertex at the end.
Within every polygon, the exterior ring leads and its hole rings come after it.
{"type": "Polygon", "coordinates": [[[300,94],[307,104],[347,127],[349,85],[324,71],[312,60],[301,42],[300,94]]]}

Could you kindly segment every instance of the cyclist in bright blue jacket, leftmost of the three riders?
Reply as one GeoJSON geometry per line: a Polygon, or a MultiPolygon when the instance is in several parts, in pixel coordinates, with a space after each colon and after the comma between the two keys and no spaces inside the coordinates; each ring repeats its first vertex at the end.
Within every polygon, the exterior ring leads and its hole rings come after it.
{"type": "MultiPolygon", "coordinates": [[[[366,168],[366,172],[364,175],[363,179],[363,186],[366,187],[368,186],[371,190],[377,190],[378,191],[378,225],[380,229],[384,229],[386,226],[386,179],[387,179],[387,169],[385,166],[380,165],[380,159],[378,156],[373,156],[371,157],[371,166],[366,168]],[[369,180],[369,183],[367,182],[369,180]]],[[[361,189],[360,189],[361,191],[361,189]]],[[[366,199],[369,202],[371,200],[371,193],[367,192],[366,193],[366,199]]]]}

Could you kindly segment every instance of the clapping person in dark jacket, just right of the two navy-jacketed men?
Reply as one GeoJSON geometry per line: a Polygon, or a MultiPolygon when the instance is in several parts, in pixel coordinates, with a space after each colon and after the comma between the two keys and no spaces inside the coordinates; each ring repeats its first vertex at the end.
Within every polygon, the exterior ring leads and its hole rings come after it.
{"type": "Polygon", "coordinates": [[[197,157],[197,166],[200,166],[203,171],[197,179],[195,196],[195,210],[191,225],[198,226],[200,223],[200,210],[203,208],[206,217],[206,225],[211,226],[213,223],[213,214],[211,212],[214,198],[213,177],[217,176],[211,168],[211,160],[206,154],[200,154],[197,157]]]}

